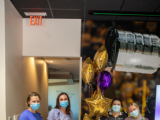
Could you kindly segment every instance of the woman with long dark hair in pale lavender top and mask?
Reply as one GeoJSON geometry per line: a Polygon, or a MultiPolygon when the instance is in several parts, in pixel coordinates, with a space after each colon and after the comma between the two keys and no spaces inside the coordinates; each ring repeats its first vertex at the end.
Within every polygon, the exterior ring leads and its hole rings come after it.
{"type": "Polygon", "coordinates": [[[57,97],[56,107],[48,115],[48,120],[72,120],[73,113],[70,110],[70,99],[66,93],[60,93],[57,97]]]}

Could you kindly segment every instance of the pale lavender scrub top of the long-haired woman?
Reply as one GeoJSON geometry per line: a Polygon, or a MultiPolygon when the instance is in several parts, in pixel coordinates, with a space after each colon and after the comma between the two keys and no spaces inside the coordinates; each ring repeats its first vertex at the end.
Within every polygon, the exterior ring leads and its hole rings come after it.
{"type": "Polygon", "coordinates": [[[52,109],[49,112],[47,120],[72,120],[73,113],[70,111],[70,115],[65,115],[60,109],[52,109]]]}

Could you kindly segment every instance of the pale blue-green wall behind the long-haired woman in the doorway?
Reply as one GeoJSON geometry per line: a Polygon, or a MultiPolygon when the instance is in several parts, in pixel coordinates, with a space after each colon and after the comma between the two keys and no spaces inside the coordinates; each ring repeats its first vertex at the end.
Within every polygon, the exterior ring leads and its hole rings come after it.
{"type": "Polygon", "coordinates": [[[79,83],[73,85],[48,86],[48,105],[52,108],[56,105],[56,99],[59,93],[66,92],[70,97],[73,120],[79,119],[79,83]]]}

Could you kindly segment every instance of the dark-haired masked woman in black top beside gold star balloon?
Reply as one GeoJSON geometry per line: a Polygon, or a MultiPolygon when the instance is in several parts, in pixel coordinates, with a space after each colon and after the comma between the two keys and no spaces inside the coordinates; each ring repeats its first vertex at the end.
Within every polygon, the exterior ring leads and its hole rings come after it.
{"type": "Polygon", "coordinates": [[[121,111],[122,102],[119,98],[114,98],[111,103],[111,111],[105,120],[124,120],[127,114],[121,111]]]}

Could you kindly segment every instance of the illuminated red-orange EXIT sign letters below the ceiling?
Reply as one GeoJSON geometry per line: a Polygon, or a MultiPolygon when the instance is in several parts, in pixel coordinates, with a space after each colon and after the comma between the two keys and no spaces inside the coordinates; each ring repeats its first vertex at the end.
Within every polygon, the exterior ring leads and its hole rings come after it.
{"type": "Polygon", "coordinates": [[[42,16],[30,16],[30,25],[42,25],[42,16]]]}

